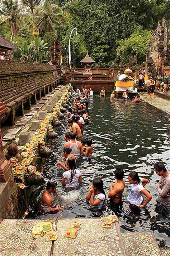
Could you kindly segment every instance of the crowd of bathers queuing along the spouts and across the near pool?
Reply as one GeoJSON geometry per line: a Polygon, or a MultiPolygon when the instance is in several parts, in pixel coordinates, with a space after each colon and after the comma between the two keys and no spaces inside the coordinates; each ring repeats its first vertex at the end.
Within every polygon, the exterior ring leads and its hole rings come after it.
{"type": "MultiPolygon", "coordinates": [[[[66,187],[66,190],[76,189],[82,182],[82,172],[76,169],[77,159],[81,155],[90,157],[93,154],[92,139],[85,139],[83,136],[84,126],[91,122],[88,113],[88,98],[93,97],[93,90],[91,88],[88,90],[86,87],[82,87],[82,92],[80,89],[77,89],[76,93],[73,106],[69,107],[66,114],[69,129],[64,136],[65,145],[62,153],[62,157],[65,158],[65,163],[62,163],[60,160],[57,161],[58,167],[64,170],[62,175],[62,185],[66,187]],[[92,91],[91,95],[90,91],[92,91]]],[[[155,163],[154,169],[156,174],[161,176],[158,185],[159,201],[166,207],[170,207],[170,175],[164,164],[161,162],[155,163]]],[[[116,168],[114,171],[114,178],[116,181],[109,187],[110,192],[108,198],[110,198],[112,203],[117,205],[121,202],[125,188],[125,181],[123,179],[124,171],[121,168],[116,168]]],[[[152,198],[151,194],[144,188],[148,183],[148,179],[140,178],[136,171],[131,171],[128,174],[128,181],[131,184],[131,190],[127,198],[128,202],[131,205],[140,208],[145,207],[152,198]],[[146,197],[144,202],[142,194],[146,197]]],[[[52,207],[53,193],[55,192],[55,182],[48,181],[47,187],[43,192],[42,201],[52,212],[63,210],[64,208],[63,206],[59,208],[52,207]]],[[[103,180],[96,177],[89,187],[86,200],[90,207],[100,209],[103,207],[105,199],[106,194],[103,188],[103,180]]]]}

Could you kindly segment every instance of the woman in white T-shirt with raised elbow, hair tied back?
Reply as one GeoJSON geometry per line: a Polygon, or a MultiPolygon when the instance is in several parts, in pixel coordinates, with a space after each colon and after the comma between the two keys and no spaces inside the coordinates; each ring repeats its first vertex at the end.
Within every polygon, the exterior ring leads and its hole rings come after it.
{"type": "Polygon", "coordinates": [[[144,188],[148,180],[139,178],[137,172],[135,171],[131,171],[129,173],[128,180],[129,183],[131,184],[131,192],[127,198],[129,203],[131,203],[132,205],[136,205],[140,208],[145,207],[152,198],[151,194],[144,188]],[[143,201],[142,194],[146,196],[146,200],[143,205],[141,205],[143,201]]]}

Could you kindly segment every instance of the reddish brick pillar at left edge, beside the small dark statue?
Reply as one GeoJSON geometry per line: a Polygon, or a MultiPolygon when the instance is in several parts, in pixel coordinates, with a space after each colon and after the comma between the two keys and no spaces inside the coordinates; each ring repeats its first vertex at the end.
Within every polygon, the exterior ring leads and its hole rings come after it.
{"type": "Polygon", "coordinates": [[[12,165],[10,161],[5,160],[2,134],[0,129],[0,182],[9,182],[10,187],[14,184],[14,177],[12,173],[12,165]]]}

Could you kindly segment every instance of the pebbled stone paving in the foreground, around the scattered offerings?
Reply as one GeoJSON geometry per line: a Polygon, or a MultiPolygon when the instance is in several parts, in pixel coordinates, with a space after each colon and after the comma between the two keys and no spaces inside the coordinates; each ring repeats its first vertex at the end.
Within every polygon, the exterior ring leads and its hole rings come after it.
{"type": "Polygon", "coordinates": [[[119,224],[101,228],[99,218],[76,219],[82,224],[75,239],[66,237],[73,219],[54,219],[57,240],[47,242],[46,236],[34,239],[32,228],[47,219],[5,219],[0,222],[0,256],[166,256],[152,233],[121,234],[119,224]]]}

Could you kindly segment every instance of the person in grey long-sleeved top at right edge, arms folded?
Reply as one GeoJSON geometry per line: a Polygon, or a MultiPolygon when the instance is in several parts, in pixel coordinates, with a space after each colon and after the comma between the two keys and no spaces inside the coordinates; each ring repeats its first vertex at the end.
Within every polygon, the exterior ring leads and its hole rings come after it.
{"type": "Polygon", "coordinates": [[[170,208],[170,174],[161,162],[155,163],[154,169],[156,174],[161,177],[157,186],[159,202],[165,207],[170,208]]]}

